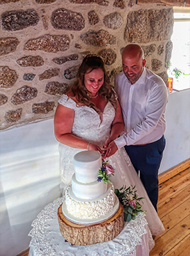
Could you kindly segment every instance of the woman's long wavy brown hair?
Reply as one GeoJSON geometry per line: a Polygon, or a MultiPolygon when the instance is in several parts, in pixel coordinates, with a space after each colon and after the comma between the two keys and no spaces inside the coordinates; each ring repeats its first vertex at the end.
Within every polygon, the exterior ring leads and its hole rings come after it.
{"type": "Polygon", "coordinates": [[[104,97],[104,99],[108,102],[111,102],[114,109],[116,110],[117,101],[116,101],[116,92],[114,92],[113,88],[109,84],[108,75],[106,73],[104,67],[104,61],[97,55],[86,55],[82,64],[79,66],[79,70],[77,72],[77,81],[72,86],[73,95],[76,96],[79,105],[86,105],[92,107],[94,110],[101,114],[101,111],[97,109],[93,102],[91,102],[91,92],[86,89],[84,85],[84,75],[87,73],[91,73],[92,70],[101,68],[104,72],[104,83],[99,89],[99,95],[104,97]]]}

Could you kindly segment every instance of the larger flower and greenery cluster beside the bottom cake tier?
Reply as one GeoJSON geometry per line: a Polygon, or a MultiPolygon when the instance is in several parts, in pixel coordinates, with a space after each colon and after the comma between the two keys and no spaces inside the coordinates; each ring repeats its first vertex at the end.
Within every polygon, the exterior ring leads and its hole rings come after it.
{"type": "Polygon", "coordinates": [[[139,212],[146,213],[146,210],[141,209],[140,201],[143,199],[143,197],[138,197],[137,191],[134,191],[135,186],[129,186],[126,188],[126,186],[123,186],[120,189],[115,189],[116,196],[118,196],[118,200],[123,205],[123,211],[124,211],[124,220],[126,222],[132,220],[135,220],[136,215],[139,212]]]}

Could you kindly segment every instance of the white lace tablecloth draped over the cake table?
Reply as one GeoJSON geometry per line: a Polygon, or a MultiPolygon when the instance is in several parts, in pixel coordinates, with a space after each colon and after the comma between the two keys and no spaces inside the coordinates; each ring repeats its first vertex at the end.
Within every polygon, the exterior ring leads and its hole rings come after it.
{"type": "Polygon", "coordinates": [[[64,199],[49,203],[33,221],[28,234],[31,237],[28,256],[148,256],[155,246],[145,213],[125,223],[121,233],[111,241],[85,246],[65,242],[57,220],[57,209],[64,199]]]}

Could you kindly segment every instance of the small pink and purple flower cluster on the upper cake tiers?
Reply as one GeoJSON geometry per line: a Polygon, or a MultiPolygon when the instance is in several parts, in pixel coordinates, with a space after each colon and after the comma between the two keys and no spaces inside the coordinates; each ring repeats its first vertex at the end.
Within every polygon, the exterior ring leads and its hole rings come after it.
{"type": "Polygon", "coordinates": [[[99,169],[99,176],[97,178],[97,181],[104,181],[105,184],[111,183],[109,178],[111,178],[111,175],[114,175],[114,169],[111,164],[108,164],[108,161],[103,161],[102,166],[99,169]]]}

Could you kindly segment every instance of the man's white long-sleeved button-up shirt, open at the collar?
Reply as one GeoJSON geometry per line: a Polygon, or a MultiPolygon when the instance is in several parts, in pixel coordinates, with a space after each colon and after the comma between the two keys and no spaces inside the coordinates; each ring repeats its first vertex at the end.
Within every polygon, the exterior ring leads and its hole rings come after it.
{"type": "Polygon", "coordinates": [[[121,137],[114,140],[118,149],[160,139],[166,128],[164,112],[168,99],[162,78],[144,68],[138,81],[131,85],[122,72],[116,76],[115,90],[125,123],[121,137]]]}

